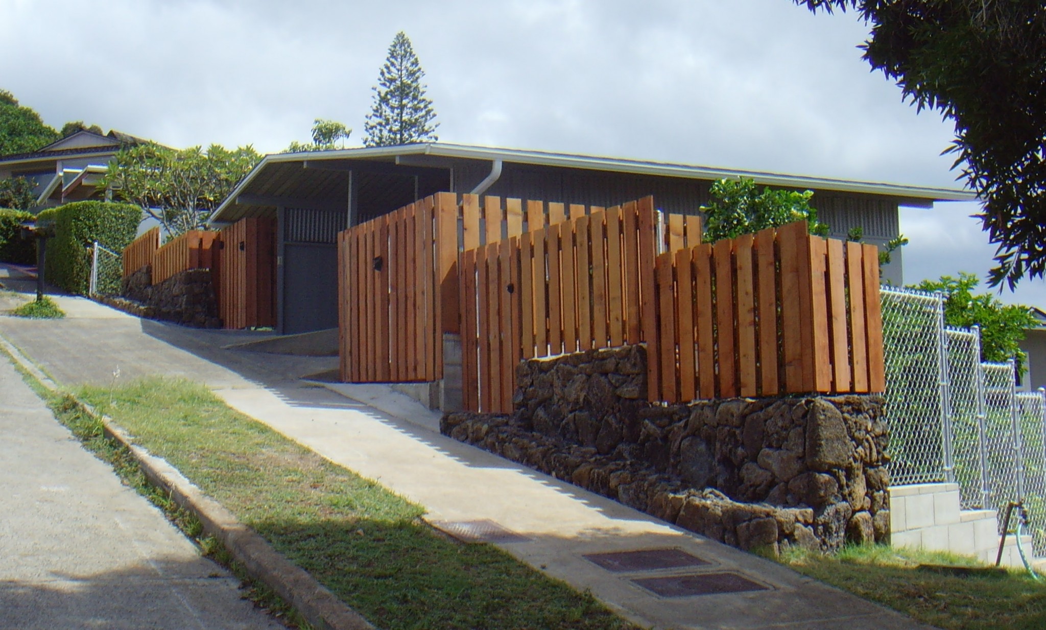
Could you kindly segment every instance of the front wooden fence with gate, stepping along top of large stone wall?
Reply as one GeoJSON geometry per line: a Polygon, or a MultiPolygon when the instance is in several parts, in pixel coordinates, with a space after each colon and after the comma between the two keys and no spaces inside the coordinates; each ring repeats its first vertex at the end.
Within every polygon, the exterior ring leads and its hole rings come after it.
{"type": "Polygon", "coordinates": [[[714,244],[697,217],[661,231],[645,197],[465,250],[465,409],[510,412],[522,359],[641,342],[650,400],[883,391],[874,246],[805,223],[714,244]]]}

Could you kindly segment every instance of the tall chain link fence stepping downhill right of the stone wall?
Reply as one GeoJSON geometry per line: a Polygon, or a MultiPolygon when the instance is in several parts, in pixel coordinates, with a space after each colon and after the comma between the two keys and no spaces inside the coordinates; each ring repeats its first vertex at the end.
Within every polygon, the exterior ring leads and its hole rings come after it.
{"type": "Polygon", "coordinates": [[[956,483],[963,509],[1000,516],[1024,500],[1046,555],[1046,394],[1018,393],[1013,361],[982,363],[980,331],[946,327],[942,295],[882,296],[892,483],[956,483]]]}

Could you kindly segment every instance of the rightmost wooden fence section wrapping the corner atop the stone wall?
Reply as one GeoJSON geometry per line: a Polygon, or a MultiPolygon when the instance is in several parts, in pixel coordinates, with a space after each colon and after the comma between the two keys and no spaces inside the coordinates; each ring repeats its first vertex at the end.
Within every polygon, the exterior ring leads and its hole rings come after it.
{"type": "Polygon", "coordinates": [[[657,257],[652,400],[884,390],[879,249],[806,229],[657,257]]]}

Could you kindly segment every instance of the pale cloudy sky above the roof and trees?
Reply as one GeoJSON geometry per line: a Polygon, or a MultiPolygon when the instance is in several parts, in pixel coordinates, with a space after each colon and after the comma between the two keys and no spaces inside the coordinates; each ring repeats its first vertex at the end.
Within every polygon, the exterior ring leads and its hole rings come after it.
{"type": "MultiPolygon", "coordinates": [[[[790,0],[0,0],[0,89],[172,146],[277,151],[314,118],[355,143],[399,30],[441,141],[959,186],[952,125],[869,72],[866,26],[790,0]]],[[[977,210],[903,209],[906,281],[983,276],[977,210]]],[[[1046,283],[1001,297],[1046,306],[1046,283]]]]}

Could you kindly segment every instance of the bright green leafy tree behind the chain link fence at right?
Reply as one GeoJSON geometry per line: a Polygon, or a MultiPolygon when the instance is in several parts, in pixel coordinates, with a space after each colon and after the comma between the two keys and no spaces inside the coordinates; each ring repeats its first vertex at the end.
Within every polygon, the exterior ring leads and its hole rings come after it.
{"type": "Polygon", "coordinates": [[[958,278],[941,276],[924,280],[915,288],[945,294],[945,322],[949,326],[980,326],[982,360],[1003,363],[1013,358],[1023,373],[1028,357],[1019,344],[1024,331],[1037,324],[1027,306],[1005,305],[991,294],[975,296],[977,276],[959,272],[958,278]]]}

